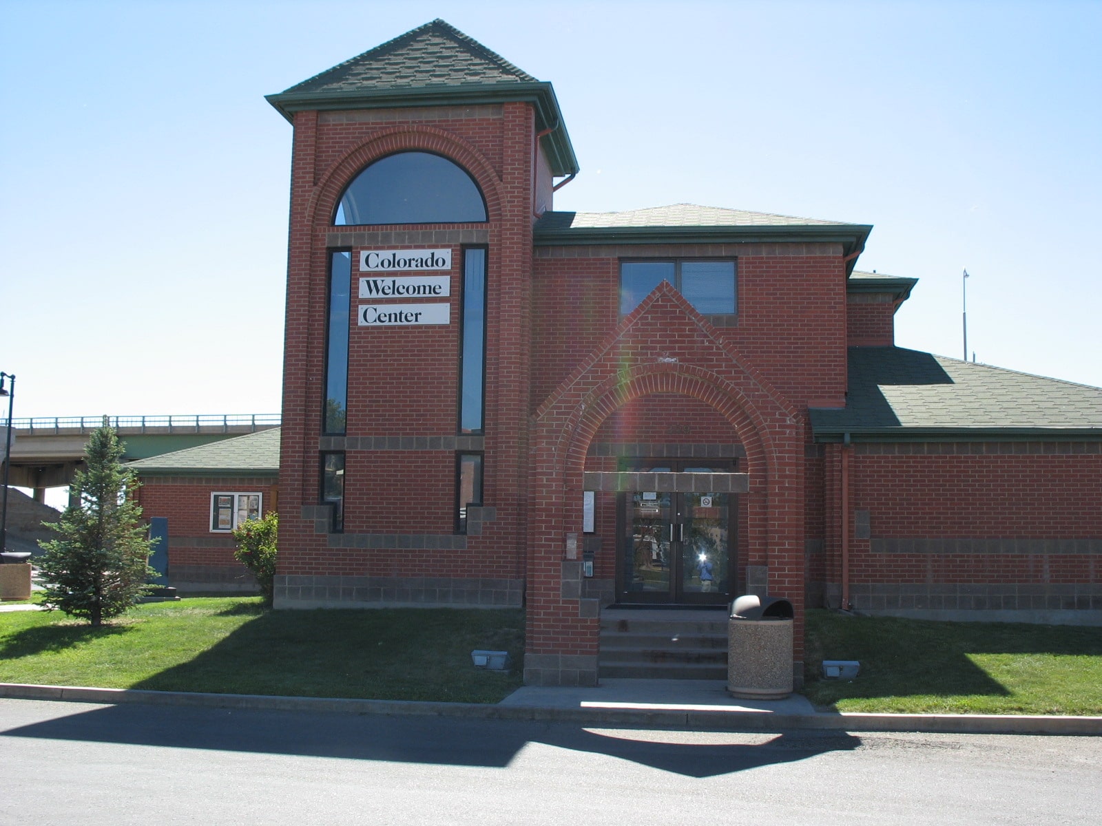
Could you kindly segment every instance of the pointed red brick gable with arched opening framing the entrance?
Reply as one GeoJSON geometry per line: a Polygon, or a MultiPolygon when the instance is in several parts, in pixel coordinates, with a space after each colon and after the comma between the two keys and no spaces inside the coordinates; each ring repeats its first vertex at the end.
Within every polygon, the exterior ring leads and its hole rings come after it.
{"type": "Polygon", "coordinates": [[[796,660],[802,659],[803,422],[663,285],[536,413],[525,663],[530,684],[596,683],[601,606],[583,598],[581,574],[586,453],[614,411],[663,393],[704,402],[737,431],[749,474],[747,562],[767,569],[769,593],[796,607],[796,660]]]}

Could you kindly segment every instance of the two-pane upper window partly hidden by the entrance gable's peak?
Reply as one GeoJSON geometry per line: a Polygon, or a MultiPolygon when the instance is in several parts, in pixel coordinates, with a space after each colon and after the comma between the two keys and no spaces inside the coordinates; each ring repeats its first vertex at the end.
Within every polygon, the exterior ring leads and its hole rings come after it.
{"type": "Polygon", "coordinates": [[[735,262],[622,261],[620,315],[627,315],[663,281],[680,292],[699,313],[734,316],[738,312],[735,262]]]}

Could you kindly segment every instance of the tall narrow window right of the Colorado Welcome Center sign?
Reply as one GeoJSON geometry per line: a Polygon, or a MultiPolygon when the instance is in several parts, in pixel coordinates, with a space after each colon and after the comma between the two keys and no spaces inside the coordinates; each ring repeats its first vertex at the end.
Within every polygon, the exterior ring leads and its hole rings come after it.
{"type": "Polygon", "coordinates": [[[483,433],[486,374],[486,249],[463,250],[460,433],[483,433]]]}

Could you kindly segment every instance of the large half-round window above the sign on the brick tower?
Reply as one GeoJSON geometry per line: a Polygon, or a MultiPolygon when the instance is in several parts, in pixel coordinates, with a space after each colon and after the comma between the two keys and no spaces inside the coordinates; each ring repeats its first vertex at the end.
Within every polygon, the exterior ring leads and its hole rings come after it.
{"type": "Polygon", "coordinates": [[[462,167],[430,152],[387,155],[348,184],[333,224],[474,224],[486,202],[462,167]]]}

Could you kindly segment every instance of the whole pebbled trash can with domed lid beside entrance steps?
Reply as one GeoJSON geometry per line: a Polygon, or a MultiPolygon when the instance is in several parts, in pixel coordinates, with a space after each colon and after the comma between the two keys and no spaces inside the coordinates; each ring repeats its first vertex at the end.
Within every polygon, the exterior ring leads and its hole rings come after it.
{"type": "Polygon", "coordinates": [[[731,604],[727,692],[741,699],[784,699],[792,693],[792,604],[753,594],[731,604]]]}

